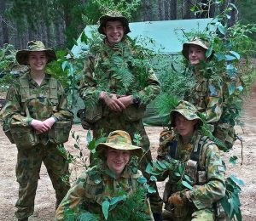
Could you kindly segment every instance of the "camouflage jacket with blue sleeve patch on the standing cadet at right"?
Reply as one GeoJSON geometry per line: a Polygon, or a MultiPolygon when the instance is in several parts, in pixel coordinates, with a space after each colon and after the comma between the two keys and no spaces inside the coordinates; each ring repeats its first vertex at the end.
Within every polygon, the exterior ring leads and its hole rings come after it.
{"type": "Polygon", "coordinates": [[[185,94],[184,100],[195,105],[207,122],[218,122],[223,111],[223,83],[198,77],[195,88],[185,94]]]}

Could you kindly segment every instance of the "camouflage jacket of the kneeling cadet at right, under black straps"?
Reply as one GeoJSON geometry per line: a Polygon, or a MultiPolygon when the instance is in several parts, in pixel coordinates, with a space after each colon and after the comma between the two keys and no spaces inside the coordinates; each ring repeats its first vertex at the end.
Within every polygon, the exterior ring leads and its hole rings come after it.
{"type": "MultiPolygon", "coordinates": [[[[181,162],[187,162],[189,161],[192,152],[196,151],[198,144],[202,144],[197,171],[206,173],[205,181],[203,184],[199,184],[198,174],[200,173],[197,173],[193,190],[189,190],[191,200],[197,209],[204,209],[207,207],[211,208],[212,203],[220,200],[225,194],[225,169],[220,158],[218,146],[209,139],[207,139],[207,141],[203,141],[203,138],[204,137],[199,131],[195,131],[189,144],[183,144],[183,141],[179,135],[169,133],[169,136],[166,136],[165,133],[165,141],[160,137],[160,148],[158,149],[157,156],[159,160],[165,159],[166,156],[170,157],[170,151],[172,148],[174,148],[173,144],[177,142],[177,149],[175,151],[174,158],[181,162]]],[[[172,195],[172,193],[185,189],[185,187],[182,187],[182,189],[178,187],[178,178],[175,176],[174,171],[170,170],[168,173],[165,173],[161,180],[164,180],[167,178],[167,176],[169,176],[167,183],[170,185],[166,185],[166,188],[168,186],[168,190],[165,190],[164,201],[165,198],[168,198],[170,195],[172,195]]]]}

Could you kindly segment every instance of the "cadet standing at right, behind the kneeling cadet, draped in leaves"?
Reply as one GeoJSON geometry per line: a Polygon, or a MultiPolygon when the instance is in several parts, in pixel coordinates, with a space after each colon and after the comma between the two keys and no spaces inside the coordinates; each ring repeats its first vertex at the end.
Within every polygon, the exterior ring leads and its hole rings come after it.
{"type": "MultiPolygon", "coordinates": [[[[195,105],[206,117],[207,122],[214,125],[223,111],[223,83],[204,77],[200,70],[200,61],[207,62],[206,52],[209,47],[208,42],[199,38],[183,44],[183,56],[195,67],[197,78],[195,88],[185,94],[184,100],[195,105]]],[[[212,59],[212,55],[208,59],[212,59]]]]}

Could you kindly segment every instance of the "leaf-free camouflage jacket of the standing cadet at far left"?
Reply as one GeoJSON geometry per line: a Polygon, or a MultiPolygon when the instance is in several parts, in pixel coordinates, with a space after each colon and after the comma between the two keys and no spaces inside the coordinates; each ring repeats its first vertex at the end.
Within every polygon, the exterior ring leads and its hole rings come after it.
{"type": "MultiPolygon", "coordinates": [[[[56,85],[50,86],[51,77],[46,74],[43,82],[38,86],[29,72],[21,78],[28,81],[29,89],[22,88],[20,78],[10,85],[6,95],[6,104],[2,110],[3,121],[9,122],[12,127],[28,127],[32,119],[44,121],[51,116],[60,122],[73,120],[73,113],[67,104],[67,98],[60,82],[55,81],[56,85]],[[55,88],[55,95],[51,87],[55,88]],[[22,90],[29,93],[25,93],[26,98],[22,98],[24,94],[22,90]],[[26,107],[30,116],[26,114],[26,107]]],[[[46,137],[44,133],[40,136],[46,137]]]]}

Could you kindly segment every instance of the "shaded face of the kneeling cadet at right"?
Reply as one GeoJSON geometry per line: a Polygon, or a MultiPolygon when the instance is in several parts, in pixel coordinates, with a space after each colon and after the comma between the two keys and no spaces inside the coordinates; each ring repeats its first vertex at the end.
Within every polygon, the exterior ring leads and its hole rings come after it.
{"type": "Polygon", "coordinates": [[[195,124],[198,120],[187,120],[184,116],[181,114],[176,114],[174,116],[175,121],[175,129],[178,134],[180,134],[184,141],[190,139],[190,137],[194,133],[195,124]]]}

